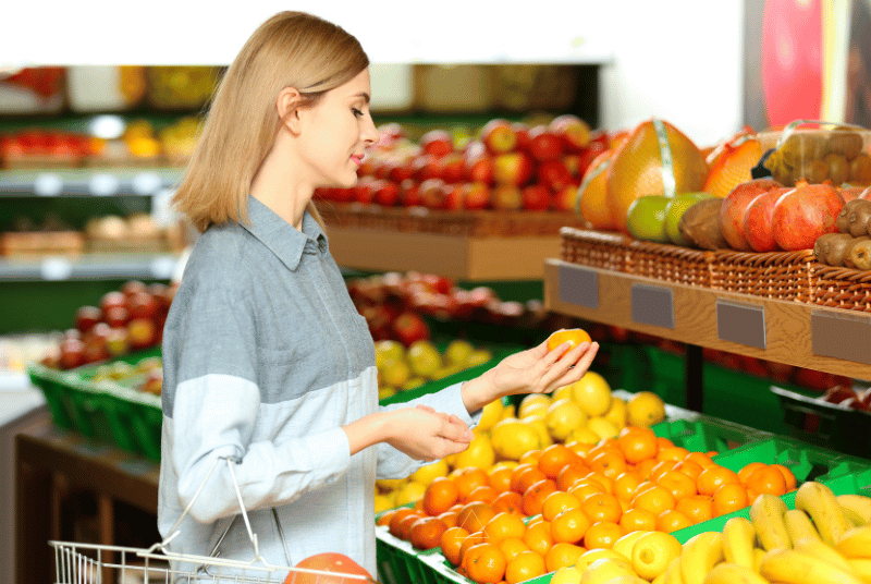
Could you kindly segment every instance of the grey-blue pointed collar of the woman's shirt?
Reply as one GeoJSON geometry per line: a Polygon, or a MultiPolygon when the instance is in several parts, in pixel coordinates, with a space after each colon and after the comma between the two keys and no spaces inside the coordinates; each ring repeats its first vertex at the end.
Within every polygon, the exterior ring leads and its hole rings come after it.
{"type": "Polygon", "coordinates": [[[295,270],[308,245],[321,252],[327,251],[327,235],[318,222],[306,210],[303,215],[303,231],[279,217],[257,198],[248,197],[248,219],[244,227],[252,235],[266,245],[289,269],[295,270]]]}

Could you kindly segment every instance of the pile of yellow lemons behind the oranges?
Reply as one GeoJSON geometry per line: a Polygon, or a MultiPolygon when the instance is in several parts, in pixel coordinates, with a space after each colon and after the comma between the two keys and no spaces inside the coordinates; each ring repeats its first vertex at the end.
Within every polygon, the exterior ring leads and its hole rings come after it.
{"type": "Polygon", "coordinates": [[[491,471],[516,465],[527,452],[553,443],[594,445],[626,426],[650,427],[665,419],[662,398],[650,391],[628,401],[612,394],[600,374],[587,372],[552,394],[530,393],[518,405],[494,401],[483,407],[475,438],[458,454],[419,469],[407,478],[378,480],[376,512],[418,501],[432,480],[461,469],[491,471]]]}

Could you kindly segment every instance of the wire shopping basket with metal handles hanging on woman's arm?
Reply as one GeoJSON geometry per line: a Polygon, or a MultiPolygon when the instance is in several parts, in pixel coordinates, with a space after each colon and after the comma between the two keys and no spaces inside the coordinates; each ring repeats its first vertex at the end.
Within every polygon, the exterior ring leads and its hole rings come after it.
{"type": "MultiPolygon", "coordinates": [[[[121,546],[109,546],[99,544],[76,544],[71,542],[49,542],[54,548],[54,570],[56,584],[205,584],[233,583],[233,584],[281,584],[285,582],[285,574],[308,573],[316,576],[323,576],[323,582],[335,582],[336,577],[360,580],[378,584],[370,577],[360,574],[341,573],[336,571],[311,570],[307,568],[295,568],[291,565],[290,551],[278,521],[278,512],[273,509],[272,513],[278,526],[278,533],[284,546],[286,565],[274,565],[267,562],[260,555],[257,534],[252,532],[248,513],[242,502],[242,492],[233,472],[233,460],[230,458],[219,458],[209,469],[203,485],[192,498],[182,515],[170,530],[170,535],[162,542],[152,545],[150,548],[131,548],[121,546]],[[226,461],[230,475],[233,478],[233,486],[238,499],[241,516],[245,522],[248,538],[254,548],[254,559],[250,561],[231,560],[220,558],[220,546],[226,534],[236,523],[236,515],[224,530],[221,537],[214,544],[210,556],[194,556],[189,553],[177,553],[169,549],[169,544],[181,533],[177,531],[182,520],[187,515],[203,487],[214,471],[216,465],[221,461],[226,461]],[[182,568],[184,565],[193,568],[182,568]],[[329,580],[328,580],[329,579],[329,580]]],[[[289,579],[290,580],[290,579],[289,579]]],[[[321,579],[319,577],[318,581],[321,579]]]]}

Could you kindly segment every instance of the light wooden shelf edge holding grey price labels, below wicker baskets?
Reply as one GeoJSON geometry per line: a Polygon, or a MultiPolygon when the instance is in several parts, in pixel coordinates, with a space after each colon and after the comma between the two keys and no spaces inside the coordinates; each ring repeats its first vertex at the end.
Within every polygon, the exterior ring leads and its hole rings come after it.
{"type": "Polygon", "coordinates": [[[856,311],[814,304],[769,300],[748,294],[726,293],[628,273],[589,268],[548,258],[544,261],[544,305],[556,313],[585,320],[624,327],[665,339],[748,355],[751,357],[807,367],[855,379],[871,380],[871,365],[814,354],[811,314],[838,316],[849,320],[868,318],[856,311]],[[575,266],[598,278],[598,308],[565,302],[560,294],[561,266],[575,266]],[[674,328],[636,323],[631,317],[633,284],[670,290],[674,302],[674,328]],[[721,340],[717,336],[717,300],[731,301],[764,311],[765,348],[721,340]]]}

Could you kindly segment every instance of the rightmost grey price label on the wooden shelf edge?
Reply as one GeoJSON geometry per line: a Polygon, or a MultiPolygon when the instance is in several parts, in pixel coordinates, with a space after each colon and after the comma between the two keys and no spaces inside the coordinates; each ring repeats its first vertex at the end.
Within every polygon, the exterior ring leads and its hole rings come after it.
{"type": "Polygon", "coordinates": [[[871,318],[811,311],[810,331],[814,355],[871,365],[871,318]]]}

